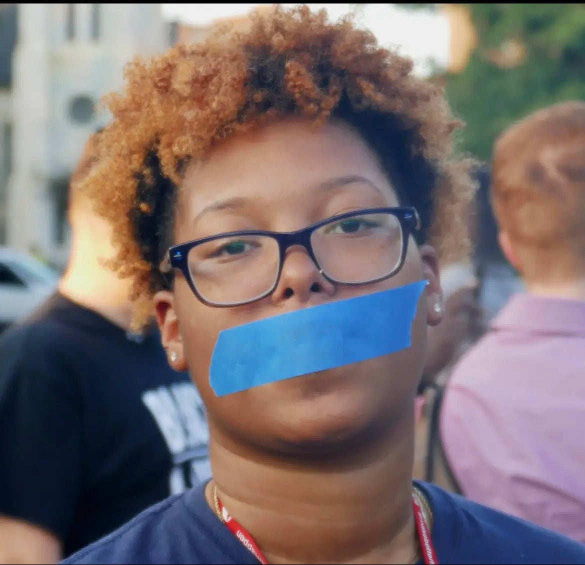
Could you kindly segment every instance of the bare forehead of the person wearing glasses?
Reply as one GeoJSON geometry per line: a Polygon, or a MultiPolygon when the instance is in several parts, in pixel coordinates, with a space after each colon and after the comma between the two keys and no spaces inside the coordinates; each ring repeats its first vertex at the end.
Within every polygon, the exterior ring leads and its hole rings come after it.
{"type": "Polygon", "coordinates": [[[317,197],[313,188],[331,178],[359,175],[392,193],[376,154],[343,123],[314,127],[287,120],[235,134],[205,160],[188,167],[181,186],[190,215],[225,199],[257,203],[317,197]]]}

